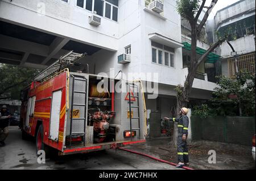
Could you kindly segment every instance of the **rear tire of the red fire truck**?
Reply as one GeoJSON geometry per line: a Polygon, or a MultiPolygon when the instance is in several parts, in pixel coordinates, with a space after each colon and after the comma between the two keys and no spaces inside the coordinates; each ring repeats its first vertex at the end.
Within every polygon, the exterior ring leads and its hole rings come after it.
{"type": "Polygon", "coordinates": [[[36,133],[36,154],[38,154],[39,150],[44,150],[44,153],[46,153],[46,158],[49,158],[50,157],[49,146],[43,143],[43,138],[44,138],[43,125],[41,124],[38,128],[38,132],[36,133]]]}

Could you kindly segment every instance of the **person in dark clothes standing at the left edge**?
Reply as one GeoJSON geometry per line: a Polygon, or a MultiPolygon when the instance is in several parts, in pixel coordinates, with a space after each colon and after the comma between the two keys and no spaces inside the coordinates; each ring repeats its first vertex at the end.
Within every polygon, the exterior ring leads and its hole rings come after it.
{"type": "Polygon", "coordinates": [[[9,134],[8,126],[10,117],[11,115],[6,105],[3,105],[0,112],[0,146],[5,146],[5,139],[9,134]]]}

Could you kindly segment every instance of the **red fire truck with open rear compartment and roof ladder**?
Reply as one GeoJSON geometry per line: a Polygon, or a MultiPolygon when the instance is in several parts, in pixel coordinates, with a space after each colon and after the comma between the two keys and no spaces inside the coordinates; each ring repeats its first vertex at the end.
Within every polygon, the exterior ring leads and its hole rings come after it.
{"type": "Polygon", "coordinates": [[[69,71],[84,56],[65,54],[22,91],[22,137],[36,138],[36,153],[86,153],[146,141],[142,84],[126,82],[127,91],[117,92],[118,79],[69,71]],[[98,91],[106,80],[109,86],[98,91]]]}

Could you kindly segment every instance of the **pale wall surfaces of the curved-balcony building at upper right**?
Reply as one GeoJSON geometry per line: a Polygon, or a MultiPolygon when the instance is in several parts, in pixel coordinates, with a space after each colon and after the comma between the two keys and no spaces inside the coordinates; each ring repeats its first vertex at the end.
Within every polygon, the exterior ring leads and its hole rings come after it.
{"type": "MultiPolygon", "coordinates": [[[[255,21],[250,22],[250,18],[253,19],[253,16],[255,16],[255,1],[242,0],[217,11],[214,17],[215,30],[219,30],[220,33],[223,34],[228,28],[233,27],[230,29],[233,34],[231,35],[232,40],[229,42],[238,56],[255,52],[255,21]],[[234,30],[236,27],[238,28],[237,31],[234,30]]],[[[216,39],[217,37],[215,37],[216,39]]],[[[225,41],[216,50],[217,54],[223,57],[222,75],[229,76],[228,58],[233,57],[230,55],[232,49],[225,41]]]]}

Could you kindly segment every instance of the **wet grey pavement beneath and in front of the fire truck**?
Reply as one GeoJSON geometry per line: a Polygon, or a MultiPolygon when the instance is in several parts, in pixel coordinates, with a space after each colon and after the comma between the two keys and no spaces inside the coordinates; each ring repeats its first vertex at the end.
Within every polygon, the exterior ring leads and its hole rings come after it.
{"type": "MultiPolygon", "coordinates": [[[[166,163],[122,150],[104,150],[87,154],[65,155],[46,159],[46,163],[39,164],[37,162],[35,142],[22,140],[18,127],[9,127],[9,130],[9,137],[5,141],[6,146],[0,147],[0,169],[176,169],[166,163]]],[[[143,145],[147,146],[146,144],[143,145]]],[[[132,149],[131,146],[126,148],[132,149]]],[[[151,155],[154,155],[154,153],[151,155]]]]}

